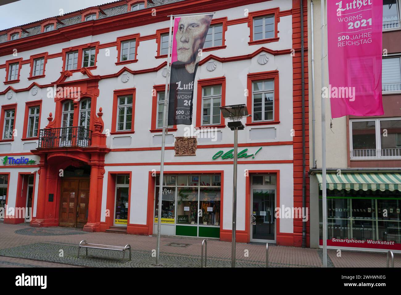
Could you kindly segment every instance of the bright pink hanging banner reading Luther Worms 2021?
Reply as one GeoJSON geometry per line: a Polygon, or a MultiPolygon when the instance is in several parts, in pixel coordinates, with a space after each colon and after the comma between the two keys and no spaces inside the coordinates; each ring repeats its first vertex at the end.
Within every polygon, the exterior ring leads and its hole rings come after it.
{"type": "Polygon", "coordinates": [[[383,0],[327,0],[332,118],[383,115],[383,0]]]}

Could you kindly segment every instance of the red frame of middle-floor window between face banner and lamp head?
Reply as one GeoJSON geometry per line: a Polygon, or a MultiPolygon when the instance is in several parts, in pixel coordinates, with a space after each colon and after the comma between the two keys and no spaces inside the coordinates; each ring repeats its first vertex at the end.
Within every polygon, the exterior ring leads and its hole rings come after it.
{"type": "Polygon", "coordinates": [[[198,92],[196,95],[196,127],[197,128],[225,128],[225,120],[223,114],[221,114],[220,124],[219,125],[202,125],[202,88],[209,86],[217,86],[221,85],[221,106],[225,106],[225,88],[226,88],[226,79],[225,77],[217,77],[217,78],[209,78],[198,80],[198,92]]]}

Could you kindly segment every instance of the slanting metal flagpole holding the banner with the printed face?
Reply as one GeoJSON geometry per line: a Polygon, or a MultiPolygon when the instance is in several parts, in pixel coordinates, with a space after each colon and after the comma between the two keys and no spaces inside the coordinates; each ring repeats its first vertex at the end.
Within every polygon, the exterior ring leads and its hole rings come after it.
{"type": "Polygon", "coordinates": [[[164,147],[166,145],[166,128],[167,128],[167,103],[168,103],[168,83],[170,82],[170,53],[171,53],[171,29],[173,26],[173,16],[170,15],[170,31],[168,34],[168,54],[167,54],[167,73],[166,88],[164,88],[164,104],[163,104],[163,131],[162,131],[162,155],[160,159],[160,186],[159,186],[159,205],[157,214],[157,246],[156,246],[156,266],[159,266],[160,253],[160,222],[162,220],[162,196],[163,196],[163,171],[164,171],[164,147]]]}

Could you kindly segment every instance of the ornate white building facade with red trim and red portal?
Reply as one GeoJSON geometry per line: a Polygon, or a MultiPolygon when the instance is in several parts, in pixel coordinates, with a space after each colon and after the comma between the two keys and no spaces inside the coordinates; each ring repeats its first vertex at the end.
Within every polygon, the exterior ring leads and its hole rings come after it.
{"type": "MultiPolygon", "coordinates": [[[[178,142],[188,126],[166,134],[162,233],[231,240],[233,161],[221,156],[233,132],[218,107],[246,104],[237,242],[301,246],[301,218],[274,217],[302,207],[300,0],[159,2],[119,0],[0,32],[4,223],[25,222],[10,208],[28,207],[33,227],[156,232],[167,16],[215,11],[194,82],[193,125],[205,129],[186,141],[192,155],[178,142]]],[[[309,222],[306,237],[309,246],[309,222]]]]}

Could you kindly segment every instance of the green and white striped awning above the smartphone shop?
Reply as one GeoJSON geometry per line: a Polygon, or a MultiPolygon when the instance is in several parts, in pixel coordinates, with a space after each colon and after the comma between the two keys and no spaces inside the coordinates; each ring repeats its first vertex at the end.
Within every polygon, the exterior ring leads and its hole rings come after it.
{"type": "MultiPolygon", "coordinates": [[[[319,181],[319,187],[322,189],[322,173],[316,173],[319,181]]],[[[367,191],[381,190],[401,191],[400,173],[326,173],[327,188],[332,189],[350,189],[367,191]]]]}

